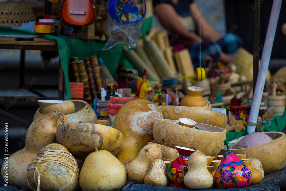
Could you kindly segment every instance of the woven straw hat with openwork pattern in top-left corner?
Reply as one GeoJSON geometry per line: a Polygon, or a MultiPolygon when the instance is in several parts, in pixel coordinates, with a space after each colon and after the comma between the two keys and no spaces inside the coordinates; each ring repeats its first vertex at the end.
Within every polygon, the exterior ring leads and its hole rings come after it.
{"type": "Polygon", "coordinates": [[[29,3],[24,1],[0,2],[0,24],[22,26],[23,23],[35,21],[36,17],[29,3]]]}

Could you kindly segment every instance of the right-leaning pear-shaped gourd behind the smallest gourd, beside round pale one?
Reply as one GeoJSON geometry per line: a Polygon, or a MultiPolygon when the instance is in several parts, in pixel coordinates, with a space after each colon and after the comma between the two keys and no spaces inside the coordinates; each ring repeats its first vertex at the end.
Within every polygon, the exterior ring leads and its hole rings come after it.
{"type": "Polygon", "coordinates": [[[153,160],[162,157],[162,151],[156,144],[145,145],[137,157],[128,165],[127,173],[131,180],[144,184],[153,160]]]}

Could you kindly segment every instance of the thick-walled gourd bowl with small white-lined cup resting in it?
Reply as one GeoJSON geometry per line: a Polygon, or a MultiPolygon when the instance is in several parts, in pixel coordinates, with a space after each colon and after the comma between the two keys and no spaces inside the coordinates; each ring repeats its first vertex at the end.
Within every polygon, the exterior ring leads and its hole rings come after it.
{"type": "Polygon", "coordinates": [[[153,137],[156,141],[200,150],[207,156],[215,156],[223,148],[226,131],[212,125],[197,123],[203,131],[179,125],[177,120],[156,119],[153,137]]]}

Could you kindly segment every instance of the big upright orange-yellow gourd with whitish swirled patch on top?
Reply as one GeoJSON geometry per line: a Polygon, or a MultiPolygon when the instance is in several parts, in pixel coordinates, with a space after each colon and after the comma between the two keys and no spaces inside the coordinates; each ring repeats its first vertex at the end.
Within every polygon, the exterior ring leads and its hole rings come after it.
{"type": "Polygon", "coordinates": [[[156,119],[163,119],[162,112],[148,100],[129,101],[119,109],[113,127],[123,134],[122,148],[116,156],[122,164],[132,162],[142,147],[153,139],[153,124],[156,119]]]}

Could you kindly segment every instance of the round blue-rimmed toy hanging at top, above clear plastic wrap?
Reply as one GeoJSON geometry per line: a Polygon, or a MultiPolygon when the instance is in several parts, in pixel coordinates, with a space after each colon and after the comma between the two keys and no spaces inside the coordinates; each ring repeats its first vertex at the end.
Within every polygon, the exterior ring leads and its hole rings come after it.
{"type": "Polygon", "coordinates": [[[113,0],[108,3],[110,17],[119,23],[137,23],[146,14],[145,0],[113,0]]]}

